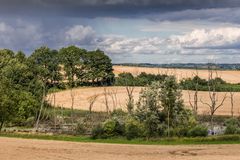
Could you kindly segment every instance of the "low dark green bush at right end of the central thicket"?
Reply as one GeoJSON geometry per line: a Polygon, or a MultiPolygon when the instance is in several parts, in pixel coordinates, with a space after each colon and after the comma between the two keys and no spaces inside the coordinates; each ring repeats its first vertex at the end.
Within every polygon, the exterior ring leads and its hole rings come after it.
{"type": "Polygon", "coordinates": [[[197,125],[188,131],[189,137],[206,137],[208,135],[208,128],[203,125],[197,125]]]}

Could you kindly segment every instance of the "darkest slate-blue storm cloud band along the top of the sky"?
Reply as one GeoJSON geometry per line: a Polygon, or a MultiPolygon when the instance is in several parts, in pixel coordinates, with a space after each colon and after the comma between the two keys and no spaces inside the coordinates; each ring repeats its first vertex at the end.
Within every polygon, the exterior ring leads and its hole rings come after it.
{"type": "Polygon", "coordinates": [[[130,17],[185,9],[240,7],[239,0],[0,0],[1,14],[130,17]]]}

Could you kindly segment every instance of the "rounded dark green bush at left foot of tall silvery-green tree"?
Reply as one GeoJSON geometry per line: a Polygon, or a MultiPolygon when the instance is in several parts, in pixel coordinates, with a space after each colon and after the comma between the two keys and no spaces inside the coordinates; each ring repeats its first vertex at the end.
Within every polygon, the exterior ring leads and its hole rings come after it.
{"type": "Polygon", "coordinates": [[[143,135],[143,125],[133,118],[128,119],[125,124],[125,135],[128,140],[141,137],[143,135]]]}

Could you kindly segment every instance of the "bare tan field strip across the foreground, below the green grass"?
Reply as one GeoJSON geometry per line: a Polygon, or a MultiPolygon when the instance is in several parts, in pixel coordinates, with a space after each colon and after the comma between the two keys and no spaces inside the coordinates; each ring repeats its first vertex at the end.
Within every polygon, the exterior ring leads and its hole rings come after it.
{"type": "Polygon", "coordinates": [[[119,145],[0,138],[2,160],[239,160],[240,145],[119,145]]]}

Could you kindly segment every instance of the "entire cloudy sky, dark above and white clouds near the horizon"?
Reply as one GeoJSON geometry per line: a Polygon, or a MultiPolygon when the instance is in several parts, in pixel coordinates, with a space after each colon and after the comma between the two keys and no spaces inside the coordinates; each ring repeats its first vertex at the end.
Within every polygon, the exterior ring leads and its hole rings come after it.
{"type": "Polygon", "coordinates": [[[239,0],[0,0],[0,48],[105,51],[114,63],[240,63],[239,0]]]}

